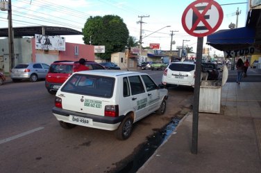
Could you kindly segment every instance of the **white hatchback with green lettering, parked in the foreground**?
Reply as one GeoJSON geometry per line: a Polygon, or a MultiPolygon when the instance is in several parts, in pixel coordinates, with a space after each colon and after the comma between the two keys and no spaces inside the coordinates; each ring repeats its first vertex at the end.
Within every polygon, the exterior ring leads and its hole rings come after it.
{"type": "Polygon", "coordinates": [[[165,113],[167,98],[167,89],[146,73],[81,71],[60,86],[52,112],[66,129],[81,125],[116,130],[116,137],[124,140],[134,122],[155,111],[165,113]]]}

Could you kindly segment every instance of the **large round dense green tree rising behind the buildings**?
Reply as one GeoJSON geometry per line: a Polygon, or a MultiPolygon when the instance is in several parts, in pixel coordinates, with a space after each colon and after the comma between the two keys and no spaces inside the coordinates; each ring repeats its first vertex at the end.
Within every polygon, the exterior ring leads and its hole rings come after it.
{"type": "Polygon", "coordinates": [[[96,53],[102,59],[110,59],[115,52],[124,51],[128,42],[128,28],[117,15],[90,17],[83,28],[85,44],[105,46],[106,53],[96,53]]]}

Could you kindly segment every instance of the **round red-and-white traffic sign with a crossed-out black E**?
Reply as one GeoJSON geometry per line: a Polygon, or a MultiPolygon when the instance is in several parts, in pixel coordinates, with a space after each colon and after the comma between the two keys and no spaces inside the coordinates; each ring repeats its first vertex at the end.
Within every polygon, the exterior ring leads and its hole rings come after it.
{"type": "Polygon", "coordinates": [[[198,0],[187,6],[181,21],[188,34],[204,37],[219,28],[223,17],[223,10],[219,3],[212,0],[198,0]]]}

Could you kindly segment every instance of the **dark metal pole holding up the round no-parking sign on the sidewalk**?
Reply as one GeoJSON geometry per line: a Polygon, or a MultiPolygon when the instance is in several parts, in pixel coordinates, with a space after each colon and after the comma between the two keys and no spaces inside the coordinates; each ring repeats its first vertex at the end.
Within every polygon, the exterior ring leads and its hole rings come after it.
{"type": "Polygon", "coordinates": [[[196,46],[196,78],[194,85],[193,122],[192,122],[192,154],[198,152],[198,129],[199,129],[199,92],[201,85],[201,60],[203,50],[203,37],[198,37],[196,46]]]}

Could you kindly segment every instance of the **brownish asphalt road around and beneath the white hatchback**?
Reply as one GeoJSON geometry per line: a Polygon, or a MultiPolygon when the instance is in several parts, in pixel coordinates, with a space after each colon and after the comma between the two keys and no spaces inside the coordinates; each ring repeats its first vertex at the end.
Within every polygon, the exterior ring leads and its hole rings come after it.
{"type": "MultiPolygon", "coordinates": [[[[163,71],[147,72],[160,83],[163,71]]],[[[169,89],[165,115],[152,113],[135,123],[128,140],[117,140],[114,131],[62,129],[51,113],[55,95],[44,81],[6,82],[0,87],[0,172],[118,172],[149,136],[190,110],[192,94],[169,89]]]]}

